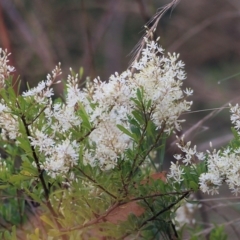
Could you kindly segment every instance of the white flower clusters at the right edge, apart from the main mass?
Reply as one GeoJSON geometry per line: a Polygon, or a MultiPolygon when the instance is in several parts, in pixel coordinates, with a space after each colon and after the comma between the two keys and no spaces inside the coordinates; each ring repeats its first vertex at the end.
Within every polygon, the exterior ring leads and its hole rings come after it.
{"type": "MultiPolygon", "coordinates": [[[[238,105],[232,107],[230,105],[231,122],[237,131],[240,138],[240,108],[238,105]]],[[[190,142],[183,144],[183,139],[180,139],[178,147],[182,154],[176,154],[174,157],[177,163],[172,163],[168,178],[174,182],[181,183],[184,180],[184,170],[181,164],[185,164],[190,168],[195,167],[196,160],[206,159],[207,172],[199,176],[199,188],[202,192],[208,194],[218,194],[219,188],[224,183],[234,195],[240,193],[240,147],[231,146],[224,150],[209,150],[206,153],[198,153],[196,146],[190,148],[190,142]],[[181,161],[181,163],[180,163],[181,161]]],[[[193,171],[192,171],[193,172],[193,171]]],[[[194,174],[194,173],[193,173],[194,174]]]]}

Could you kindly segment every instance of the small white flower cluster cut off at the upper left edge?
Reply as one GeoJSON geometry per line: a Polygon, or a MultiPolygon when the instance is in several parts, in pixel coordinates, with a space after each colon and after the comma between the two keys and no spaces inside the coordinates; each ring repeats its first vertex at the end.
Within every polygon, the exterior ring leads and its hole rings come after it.
{"type": "Polygon", "coordinates": [[[14,67],[8,65],[7,50],[0,48],[0,89],[5,86],[5,80],[9,77],[10,73],[14,72],[14,67]]]}

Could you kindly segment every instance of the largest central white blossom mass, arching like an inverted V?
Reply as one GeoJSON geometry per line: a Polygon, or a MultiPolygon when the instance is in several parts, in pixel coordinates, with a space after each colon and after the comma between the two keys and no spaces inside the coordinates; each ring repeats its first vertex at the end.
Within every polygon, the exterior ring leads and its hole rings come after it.
{"type": "Polygon", "coordinates": [[[192,91],[181,89],[185,79],[184,64],[177,59],[176,54],[165,57],[156,42],[147,41],[142,57],[132,66],[137,70],[135,74],[127,70],[120,75],[115,73],[109,82],[102,82],[99,78],[94,80],[94,90],[89,98],[96,107],[89,109],[88,113],[96,128],[89,140],[96,147],[85,152],[86,163],[113,168],[117,159],[123,157],[125,149],[131,146],[131,139],[122,134],[116,125],[120,124],[130,131],[128,118],[134,118],[132,111],[137,107],[133,99],[136,99],[139,89],[143,91],[144,101],[151,102],[150,110],[145,114],[156,129],[163,129],[167,134],[180,129],[182,120],[178,118],[190,109],[192,103],[185,97],[192,91]]]}

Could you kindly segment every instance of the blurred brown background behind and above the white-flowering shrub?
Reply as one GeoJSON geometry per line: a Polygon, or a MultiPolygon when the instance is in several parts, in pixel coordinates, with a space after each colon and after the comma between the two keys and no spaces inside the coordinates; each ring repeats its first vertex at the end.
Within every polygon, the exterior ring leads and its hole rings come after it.
{"type": "MultiPolygon", "coordinates": [[[[0,47],[12,53],[10,64],[21,76],[22,91],[26,82],[35,86],[45,79],[58,62],[64,79],[69,67],[78,72],[82,66],[84,78],[107,80],[129,66],[129,54],[144,33],[143,26],[169,2],[0,0],[0,47]]],[[[209,148],[210,141],[213,148],[224,145],[232,138],[228,103],[240,102],[240,1],[181,0],[163,16],[156,35],[166,51],[180,53],[188,76],[185,86],[194,89],[192,112],[184,115],[182,133],[200,150],[209,148]]],[[[61,86],[56,91],[61,94],[61,86]]],[[[174,140],[168,143],[169,159],[174,140]]],[[[206,211],[214,204],[204,205],[205,222],[209,221],[206,211]]],[[[227,219],[225,213],[233,211],[232,220],[239,218],[236,208],[239,205],[220,210],[227,219]]],[[[224,220],[219,212],[215,214],[214,221],[224,220]]],[[[238,239],[237,230],[229,229],[231,239],[238,239]]]]}

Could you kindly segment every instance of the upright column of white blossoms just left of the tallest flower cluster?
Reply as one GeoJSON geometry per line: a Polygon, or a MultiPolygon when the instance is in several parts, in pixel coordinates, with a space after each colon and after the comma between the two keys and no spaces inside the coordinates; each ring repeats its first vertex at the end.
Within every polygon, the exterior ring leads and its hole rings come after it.
{"type": "Polygon", "coordinates": [[[92,148],[85,151],[85,164],[97,164],[103,169],[111,169],[130,147],[130,137],[117,127],[119,124],[130,130],[128,116],[133,109],[130,99],[133,94],[126,80],[130,75],[129,71],[121,75],[116,73],[108,83],[94,80],[91,102],[95,107],[89,109],[89,114],[95,129],[89,135],[92,148]]]}

